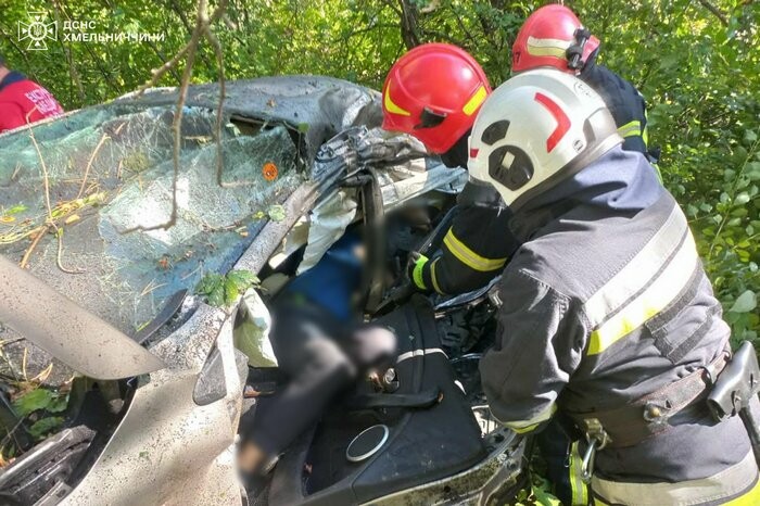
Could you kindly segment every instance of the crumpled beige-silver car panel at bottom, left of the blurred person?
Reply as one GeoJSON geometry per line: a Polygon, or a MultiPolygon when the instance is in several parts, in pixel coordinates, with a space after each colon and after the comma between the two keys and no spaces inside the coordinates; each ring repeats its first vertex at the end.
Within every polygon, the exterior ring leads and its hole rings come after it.
{"type": "Polygon", "coordinates": [[[179,331],[153,347],[169,368],[153,372],[90,472],[64,505],[240,505],[233,441],[242,382],[233,317],[201,304],[179,331]],[[193,391],[206,356],[218,350],[223,399],[199,405],[193,391]]]}

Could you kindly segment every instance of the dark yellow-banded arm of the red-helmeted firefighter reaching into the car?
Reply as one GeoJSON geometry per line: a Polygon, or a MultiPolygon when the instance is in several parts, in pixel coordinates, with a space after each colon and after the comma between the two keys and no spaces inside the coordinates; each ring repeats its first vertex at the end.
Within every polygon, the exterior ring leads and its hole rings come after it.
{"type": "Polygon", "coordinates": [[[509,231],[510,214],[495,190],[468,185],[459,206],[441,255],[417,260],[411,275],[416,288],[458,294],[484,287],[517,250],[519,243],[509,231]]]}

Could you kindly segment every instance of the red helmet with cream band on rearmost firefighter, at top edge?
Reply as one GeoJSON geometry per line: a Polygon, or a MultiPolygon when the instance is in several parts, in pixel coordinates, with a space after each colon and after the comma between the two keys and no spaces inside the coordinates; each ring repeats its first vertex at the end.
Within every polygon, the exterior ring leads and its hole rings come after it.
{"type": "Polygon", "coordinates": [[[578,73],[599,47],[599,39],[565,5],[544,5],[531,14],[512,46],[512,72],[552,66],[578,73]]]}

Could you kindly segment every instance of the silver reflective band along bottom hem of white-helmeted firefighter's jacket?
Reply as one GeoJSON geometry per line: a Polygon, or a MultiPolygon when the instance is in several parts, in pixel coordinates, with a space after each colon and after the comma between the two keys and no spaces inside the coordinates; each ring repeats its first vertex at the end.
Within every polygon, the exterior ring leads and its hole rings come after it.
{"type": "Polygon", "coordinates": [[[623,483],[592,478],[591,488],[607,504],[635,504],[636,506],[692,505],[723,503],[747,492],[758,478],[755,455],[749,452],[744,459],[723,471],[700,480],[676,483],[623,483]]]}

